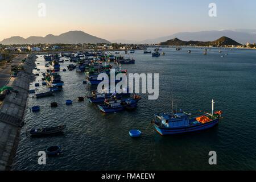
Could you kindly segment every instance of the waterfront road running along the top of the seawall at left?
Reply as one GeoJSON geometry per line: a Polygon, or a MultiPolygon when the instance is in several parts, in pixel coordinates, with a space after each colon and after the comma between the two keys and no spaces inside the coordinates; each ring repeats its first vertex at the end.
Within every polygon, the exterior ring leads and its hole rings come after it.
{"type": "Polygon", "coordinates": [[[18,55],[14,57],[11,63],[7,64],[6,68],[0,69],[0,88],[5,86],[11,77],[11,65],[19,65],[20,62],[26,57],[27,55],[18,55]]]}

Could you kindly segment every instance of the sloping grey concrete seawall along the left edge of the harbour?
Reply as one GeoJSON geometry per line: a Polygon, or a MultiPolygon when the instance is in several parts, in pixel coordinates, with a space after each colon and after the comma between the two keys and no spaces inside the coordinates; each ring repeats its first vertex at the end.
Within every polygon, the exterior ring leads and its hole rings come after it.
{"type": "Polygon", "coordinates": [[[23,126],[23,114],[27,105],[30,82],[34,81],[32,74],[35,65],[35,55],[28,55],[23,64],[23,71],[18,77],[11,78],[7,86],[18,92],[7,95],[0,106],[0,171],[9,170],[18,146],[20,128],[23,126]]]}

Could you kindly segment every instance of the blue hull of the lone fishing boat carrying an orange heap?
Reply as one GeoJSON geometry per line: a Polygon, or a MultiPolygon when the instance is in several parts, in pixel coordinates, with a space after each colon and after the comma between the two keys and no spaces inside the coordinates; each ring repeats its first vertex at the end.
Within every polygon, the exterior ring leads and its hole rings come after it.
{"type": "Polygon", "coordinates": [[[187,127],[177,127],[177,128],[167,128],[167,127],[159,127],[154,123],[154,127],[156,131],[160,135],[174,135],[174,134],[182,134],[182,133],[188,133],[193,131],[201,131],[209,129],[210,127],[216,126],[218,124],[219,119],[214,119],[213,121],[210,121],[208,123],[200,123],[196,125],[189,125],[187,127]]]}

